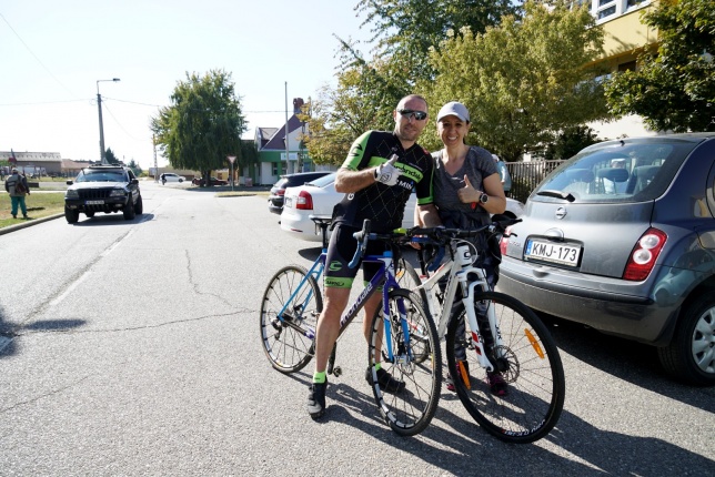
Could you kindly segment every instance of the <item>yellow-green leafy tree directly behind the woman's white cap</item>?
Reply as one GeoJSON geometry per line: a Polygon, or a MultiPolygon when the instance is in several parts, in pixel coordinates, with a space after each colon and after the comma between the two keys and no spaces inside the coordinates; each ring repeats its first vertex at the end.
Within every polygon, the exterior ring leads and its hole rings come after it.
{"type": "MultiPolygon", "coordinates": [[[[608,118],[595,72],[584,67],[603,54],[594,18],[565,1],[548,8],[530,1],[524,12],[483,34],[449,32],[430,54],[440,73],[419,87],[432,111],[463,102],[472,115],[467,141],[507,161],[543,149],[565,128],[608,118]]],[[[420,142],[441,146],[432,128],[420,142]]]]}

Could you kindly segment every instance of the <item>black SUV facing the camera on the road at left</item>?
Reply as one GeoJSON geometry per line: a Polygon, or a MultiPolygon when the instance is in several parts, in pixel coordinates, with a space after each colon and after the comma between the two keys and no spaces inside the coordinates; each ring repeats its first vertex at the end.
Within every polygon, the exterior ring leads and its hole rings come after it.
{"type": "Polygon", "coordinates": [[[80,212],[93,217],[97,212],[122,211],[128,221],[143,212],[139,180],[129,168],[90,165],[67,185],[64,217],[70,224],[79,221],[80,212]]]}

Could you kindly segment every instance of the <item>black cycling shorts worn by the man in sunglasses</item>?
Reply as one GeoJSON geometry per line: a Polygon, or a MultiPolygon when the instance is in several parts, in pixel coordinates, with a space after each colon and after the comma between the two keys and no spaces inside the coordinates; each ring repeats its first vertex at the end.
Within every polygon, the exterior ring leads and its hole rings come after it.
{"type": "MultiPolygon", "coordinates": [[[[351,268],[348,264],[353,260],[358,241],[353,236],[360,229],[338,224],[330,236],[328,254],[325,256],[324,285],[333,288],[352,288],[353,280],[358,275],[359,266],[351,268]]],[[[379,241],[367,242],[365,255],[380,255],[385,251],[385,244],[379,241]]],[[[364,263],[363,278],[370,282],[380,271],[379,263],[364,263]]]]}

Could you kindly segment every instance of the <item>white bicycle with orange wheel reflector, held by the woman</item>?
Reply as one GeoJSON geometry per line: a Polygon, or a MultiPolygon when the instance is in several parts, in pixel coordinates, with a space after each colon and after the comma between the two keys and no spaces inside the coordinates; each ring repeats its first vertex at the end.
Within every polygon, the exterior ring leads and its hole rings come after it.
{"type": "Polygon", "coordinates": [[[558,348],[531,308],[491,290],[484,270],[474,265],[480,251],[466,240],[487,234],[499,243],[516,222],[502,216],[473,230],[434,227],[412,233],[420,236],[414,242],[449,254],[432,276],[421,258],[425,276],[416,292],[431,316],[440,318],[437,334],[445,337],[447,368],[460,400],[490,434],[525,444],[547,435],[563,410],[565,382],[558,348]],[[444,277],[446,286],[440,284],[444,277]],[[465,361],[456,356],[455,347],[465,349],[465,361]],[[500,386],[505,383],[505,395],[493,393],[494,374],[501,378],[500,386]]]}

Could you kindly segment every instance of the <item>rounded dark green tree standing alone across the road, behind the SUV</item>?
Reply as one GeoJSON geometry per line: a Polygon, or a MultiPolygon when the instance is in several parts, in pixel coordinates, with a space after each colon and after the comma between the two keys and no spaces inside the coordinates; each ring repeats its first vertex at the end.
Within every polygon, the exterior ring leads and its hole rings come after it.
{"type": "Polygon", "coordinates": [[[174,169],[201,171],[208,183],[212,170],[229,166],[228,155],[240,156],[241,134],[246,131],[231,74],[223,70],[187,73],[171,95],[171,105],[152,118],[151,130],[174,169]]]}

